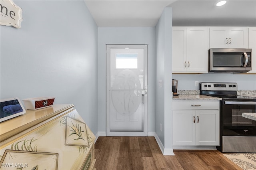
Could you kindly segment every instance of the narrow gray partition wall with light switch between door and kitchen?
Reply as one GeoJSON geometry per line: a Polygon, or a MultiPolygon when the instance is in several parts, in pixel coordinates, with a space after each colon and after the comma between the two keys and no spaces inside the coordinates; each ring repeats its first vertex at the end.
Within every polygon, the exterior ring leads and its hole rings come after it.
{"type": "Polygon", "coordinates": [[[156,134],[164,148],[172,148],[172,8],[156,24],[156,134]],[[162,80],[163,86],[159,86],[162,80]],[[162,131],[160,131],[162,124],[162,131]]]}

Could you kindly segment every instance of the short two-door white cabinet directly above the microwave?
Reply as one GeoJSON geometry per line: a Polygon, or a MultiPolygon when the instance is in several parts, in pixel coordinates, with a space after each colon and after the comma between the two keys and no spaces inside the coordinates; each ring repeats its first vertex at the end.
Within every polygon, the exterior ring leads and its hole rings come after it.
{"type": "Polygon", "coordinates": [[[248,27],[210,27],[210,48],[248,48],[248,27]]]}

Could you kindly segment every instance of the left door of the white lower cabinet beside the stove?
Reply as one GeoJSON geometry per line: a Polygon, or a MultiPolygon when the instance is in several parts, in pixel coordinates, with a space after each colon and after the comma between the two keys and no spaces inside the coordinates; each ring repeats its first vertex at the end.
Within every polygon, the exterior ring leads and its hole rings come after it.
{"type": "Polygon", "coordinates": [[[194,123],[195,111],[172,111],[172,144],[195,145],[196,124],[194,123]]]}

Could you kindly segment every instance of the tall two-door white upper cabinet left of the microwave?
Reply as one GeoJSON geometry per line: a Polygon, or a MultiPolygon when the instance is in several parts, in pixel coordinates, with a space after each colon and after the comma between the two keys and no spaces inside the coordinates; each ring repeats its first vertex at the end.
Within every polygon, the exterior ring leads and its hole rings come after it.
{"type": "Polygon", "coordinates": [[[172,72],[207,73],[209,28],[172,27],[172,72]]]}

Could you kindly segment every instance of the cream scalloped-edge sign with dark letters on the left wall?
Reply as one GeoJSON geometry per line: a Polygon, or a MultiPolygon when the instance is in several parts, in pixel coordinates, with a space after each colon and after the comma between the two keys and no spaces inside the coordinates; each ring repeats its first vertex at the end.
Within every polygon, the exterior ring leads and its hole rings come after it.
{"type": "Polygon", "coordinates": [[[22,9],[12,0],[0,0],[0,24],[21,28],[22,9]]]}

